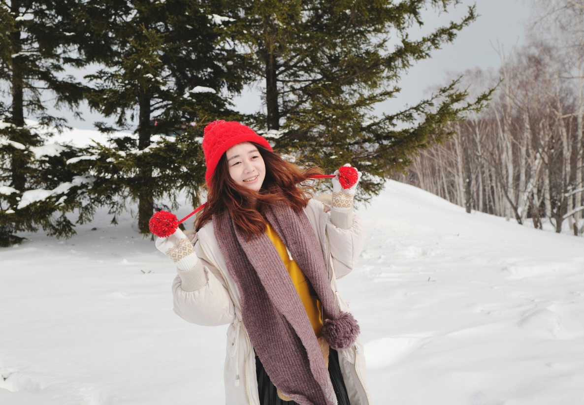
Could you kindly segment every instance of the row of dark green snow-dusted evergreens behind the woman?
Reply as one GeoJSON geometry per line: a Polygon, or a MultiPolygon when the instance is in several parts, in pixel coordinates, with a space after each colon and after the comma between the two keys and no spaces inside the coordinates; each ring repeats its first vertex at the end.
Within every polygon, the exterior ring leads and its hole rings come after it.
{"type": "Polygon", "coordinates": [[[305,165],[352,163],[364,173],[357,197],[369,199],[419,148],[448,137],[449,123],[484,106],[488,95],[468,100],[453,81],[403,111],[373,114],[416,61],[477,18],[470,7],[409,35],[422,12],[456,4],[0,0],[0,246],[40,228],[69,237],[99,207],[115,224],[128,201],[145,235],[179,193],[197,206],[203,128],[218,119],[251,125],[305,165]],[[231,99],[253,83],[266,112],[241,114],[231,99]],[[82,103],[114,123],[95,123],[100,131],[127,136],[84,148],[51,142],[68,123],[48,107],[81,114],[82,103]]]}

